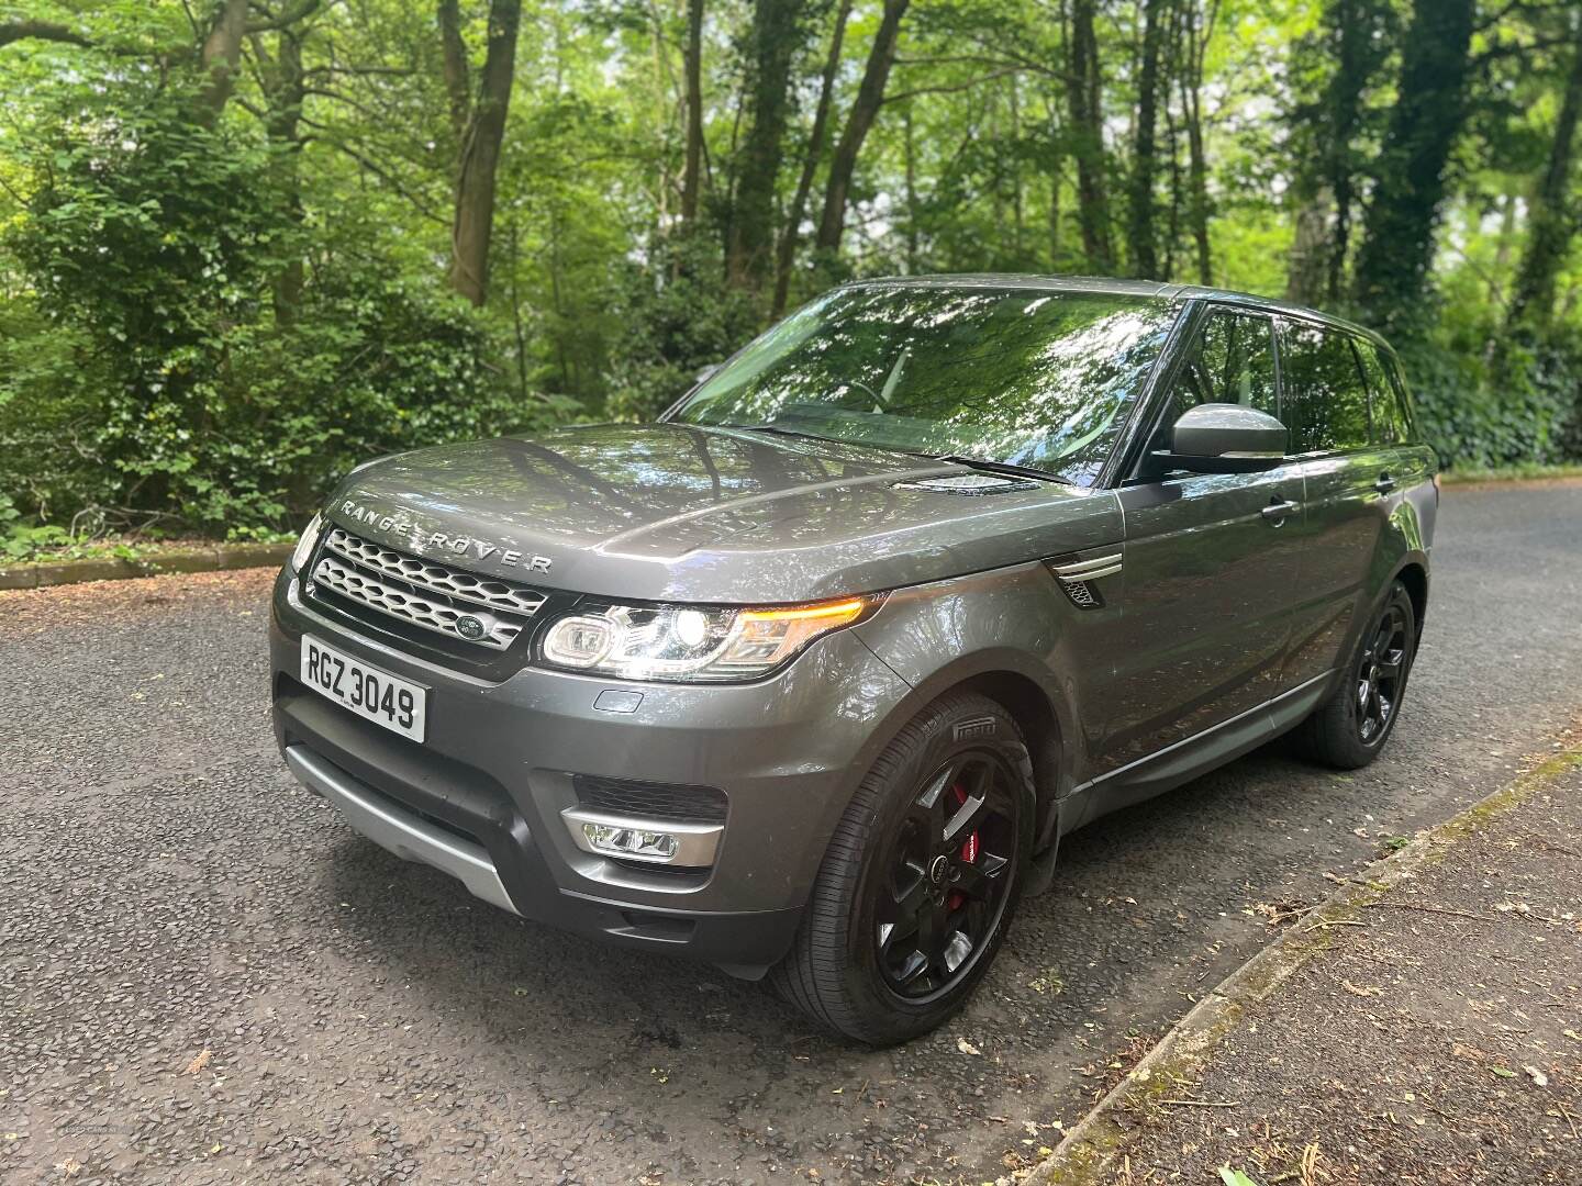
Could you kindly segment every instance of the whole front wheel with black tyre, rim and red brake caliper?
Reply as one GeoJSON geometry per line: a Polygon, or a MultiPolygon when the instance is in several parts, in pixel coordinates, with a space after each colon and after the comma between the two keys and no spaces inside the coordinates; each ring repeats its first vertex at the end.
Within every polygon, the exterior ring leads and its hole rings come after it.
{"type": "Polygon", "coordinates": [[[929,705],[835,825],[775,988],[872,1045],[938,1026],[1000,949],[1035,802],[1027,745],[1005,708],[978,694],[929,705]]]}

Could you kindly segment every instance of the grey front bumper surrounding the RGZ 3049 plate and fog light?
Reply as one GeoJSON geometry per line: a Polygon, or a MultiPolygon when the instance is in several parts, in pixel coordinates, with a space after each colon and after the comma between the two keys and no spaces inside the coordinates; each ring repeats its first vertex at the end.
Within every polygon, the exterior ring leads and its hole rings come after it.
{"type": "Polygon", "coordinates": [[[761,683],[623,685],[535,667],[490,683],[331,620],[288,574],[275,584],[271,663],[286,764],[356,830],[527,919],[742,976],[789,946],[875,726],[910,691],[851,631],[761,683]],[[427,686],[429,740],[302,686],[304,633],[427,686]],[[595,708],[609,691],[641,702],[595,708]],[[713,863],[644,868],[579,848],[562,819],[577,806],[574,775],[718,788],[728,814],[713,863]]]}

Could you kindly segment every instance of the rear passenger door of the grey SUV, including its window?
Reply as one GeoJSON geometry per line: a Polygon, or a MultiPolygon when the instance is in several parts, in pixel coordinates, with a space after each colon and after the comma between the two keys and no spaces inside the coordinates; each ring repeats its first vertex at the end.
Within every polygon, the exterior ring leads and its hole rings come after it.
{"type": "Polygon", "coordinates": [[[1307,553],[1281,691],[1332,670],[1357,612],[1380,582],[1373,566],[1389,519],[1395,449],[1384,408],[1375,408],[1354,335],[1296,318],[1280,319],[1281,405],[1291,451],[1302,462],[1307,553]]]}

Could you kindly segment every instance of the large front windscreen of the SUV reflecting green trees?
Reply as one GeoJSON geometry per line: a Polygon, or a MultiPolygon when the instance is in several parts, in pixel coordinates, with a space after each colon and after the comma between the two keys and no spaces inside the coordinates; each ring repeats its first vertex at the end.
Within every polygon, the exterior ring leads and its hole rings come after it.
{"type": "Polygon", "coordinates": [[[755,340],[674,419],[777,429],[1090,484],[1177,305],[1008,288],[837,289],[755,340]]]}

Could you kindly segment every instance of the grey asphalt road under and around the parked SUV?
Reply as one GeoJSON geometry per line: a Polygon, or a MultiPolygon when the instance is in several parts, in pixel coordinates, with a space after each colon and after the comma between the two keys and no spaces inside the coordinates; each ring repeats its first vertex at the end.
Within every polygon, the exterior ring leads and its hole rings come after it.
{"type": "Polygon", "coordinates": [[[899,1050],[473,901],[294,786],[269,574],[0,595],[0,1180],[971,1181],[1391,837],[1582,708],[1582,487],[1446,495],[1386,756],[1278,746],[1076,837],[899,1050]]]}

